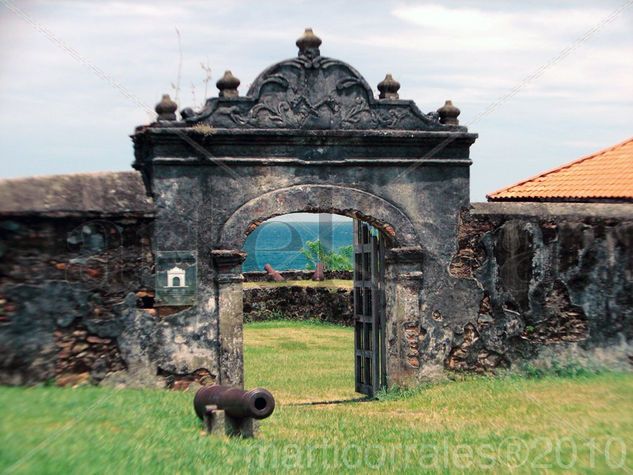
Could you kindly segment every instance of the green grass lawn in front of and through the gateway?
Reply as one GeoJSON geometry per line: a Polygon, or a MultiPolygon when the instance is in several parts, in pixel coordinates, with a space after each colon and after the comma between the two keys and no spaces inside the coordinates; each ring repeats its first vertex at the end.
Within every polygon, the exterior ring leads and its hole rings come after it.
{"type": "Polygon", "coordinates": [[[0,388],[2,473],[632,473],[633,375],[471,378],[353,399],[352,330],[245,330],[247,385],[278,407],[257,439],[202,432],[193,395],[0,388]]]}

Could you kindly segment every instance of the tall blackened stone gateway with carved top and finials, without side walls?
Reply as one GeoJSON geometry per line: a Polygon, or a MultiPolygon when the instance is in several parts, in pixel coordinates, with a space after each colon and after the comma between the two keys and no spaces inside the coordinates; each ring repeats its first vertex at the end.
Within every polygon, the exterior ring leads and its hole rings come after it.
{"type": "Polygon", "coordinates": [[[425,328],[454,314],[448,269],[477,135],[450,104],[424,113],[400,99],[390,75],[376,97],[350,65],[321,56],[311,30],[297,46],[245,96],[227,71],[201,110],[185,108],[178,120],[165,99],[158,120],[133,135],[134,167],[156,202],[156,252],[196,259],[193,304],[178,318],[202,336],[180,348],[182,370],[195,361],[223,384],[242,384],[241,243],[268,217],[326,211],[368,221],[396,243],[385,255],[386,372],[403,384],[448,351],[446,335],[425,339],[425,328]]]}

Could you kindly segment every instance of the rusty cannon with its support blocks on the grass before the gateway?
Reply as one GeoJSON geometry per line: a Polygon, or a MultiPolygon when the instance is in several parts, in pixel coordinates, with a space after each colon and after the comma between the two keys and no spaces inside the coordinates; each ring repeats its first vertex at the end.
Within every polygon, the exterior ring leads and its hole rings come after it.
{"type": "Polygon", "coordinates": [[[207,432],[253,437],[255,420],[270,417],[275,410],[275,398],[263,388],[245,391],[214,385],[196,392],[193,407],[207,432]]]}

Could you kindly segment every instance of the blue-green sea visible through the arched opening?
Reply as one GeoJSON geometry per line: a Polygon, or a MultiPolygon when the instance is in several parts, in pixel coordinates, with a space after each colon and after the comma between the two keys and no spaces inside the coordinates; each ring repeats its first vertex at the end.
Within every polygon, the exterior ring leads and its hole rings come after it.
{"type": "Polygon", "coordinates": [[[305,269],[308,260],[300,250],[306,241],[319,239],[337,251],[352,244],[352,237],[352,220],[264,223],[246,239],[248,256],[242,268],[244,272],[264,270],[264,265],[270,264],[276,270],[305,269]]]}

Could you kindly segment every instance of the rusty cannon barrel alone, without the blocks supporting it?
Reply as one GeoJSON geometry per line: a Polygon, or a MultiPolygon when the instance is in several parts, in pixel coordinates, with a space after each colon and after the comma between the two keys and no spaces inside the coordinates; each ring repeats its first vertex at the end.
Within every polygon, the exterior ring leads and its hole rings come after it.
{"type": "Polygon", "coordinates": [[[275,410],[275,398],[263,388],[244,391],[230,386],[205,386],[198,389],[193,398],[193,407],[200,419],[205,408],[215,405],[232,417],[265,419],[275,410]]]}

